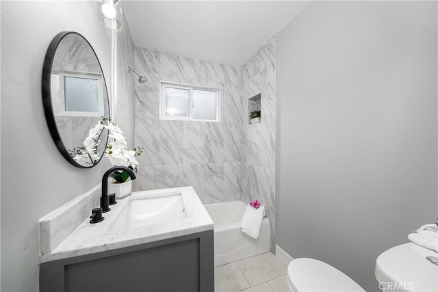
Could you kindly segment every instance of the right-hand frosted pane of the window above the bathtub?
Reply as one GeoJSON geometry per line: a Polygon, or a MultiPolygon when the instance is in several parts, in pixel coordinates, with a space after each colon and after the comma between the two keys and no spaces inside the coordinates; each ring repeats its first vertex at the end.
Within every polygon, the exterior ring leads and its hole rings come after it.
{"type": "Polygon", "coordinates": [[[193,118],[216,120],[216,91],[193,90],[193,118]]]}

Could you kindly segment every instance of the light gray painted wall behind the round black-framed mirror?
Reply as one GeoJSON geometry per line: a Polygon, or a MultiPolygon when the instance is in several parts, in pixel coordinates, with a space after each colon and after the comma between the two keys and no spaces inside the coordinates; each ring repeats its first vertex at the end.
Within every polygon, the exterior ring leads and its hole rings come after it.
{"type": "Polygon", "coordinates": [[[1,291],[38,291],[38,219],[97,185],[110,166],[103,159],[83,170],[64,160],[47,129],[40,93],[44,56],[60,31],[88,39],[110,90],[111,31],[96,11],[94,1],[1,2],[1,291]]]}

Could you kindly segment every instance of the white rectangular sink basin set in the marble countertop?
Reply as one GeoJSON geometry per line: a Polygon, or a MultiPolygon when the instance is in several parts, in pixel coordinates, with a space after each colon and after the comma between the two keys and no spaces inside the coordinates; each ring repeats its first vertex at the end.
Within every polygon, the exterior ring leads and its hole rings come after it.
{"type": "Polygon", "coordinates": [[[129,230],[186,217],[181,194],[131,196],[108,230],[129,230]]]}

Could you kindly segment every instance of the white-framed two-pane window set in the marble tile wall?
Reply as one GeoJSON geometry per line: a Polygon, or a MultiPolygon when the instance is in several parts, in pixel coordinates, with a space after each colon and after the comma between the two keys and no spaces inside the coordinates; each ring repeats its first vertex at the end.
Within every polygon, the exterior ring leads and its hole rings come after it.
{"type": "Polygon", "coordinates": [[[160,118],[164,120],[219,120],[217,89],[161,82],[160,96],[160,118]]]}

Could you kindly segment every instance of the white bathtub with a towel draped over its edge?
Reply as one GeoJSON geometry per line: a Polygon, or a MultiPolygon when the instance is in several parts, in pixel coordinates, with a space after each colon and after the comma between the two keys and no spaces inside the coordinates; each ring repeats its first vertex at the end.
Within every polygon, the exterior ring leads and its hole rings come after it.
{"type": "Polygon", "coordinates": [[[224,265],[249,256],[263,254],[271,249],[270,221],[264,217],[257,240],[240,232],[240,221],[246,204],[240,200],[205,204],[214,222],[214,266],[224,265]]]}

